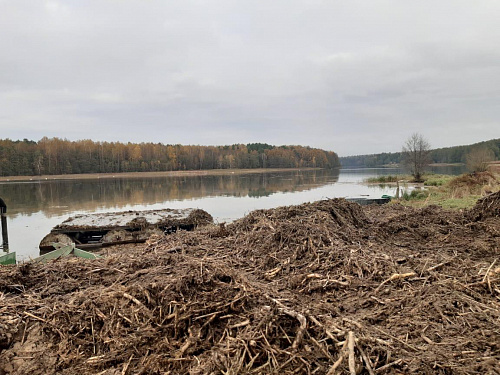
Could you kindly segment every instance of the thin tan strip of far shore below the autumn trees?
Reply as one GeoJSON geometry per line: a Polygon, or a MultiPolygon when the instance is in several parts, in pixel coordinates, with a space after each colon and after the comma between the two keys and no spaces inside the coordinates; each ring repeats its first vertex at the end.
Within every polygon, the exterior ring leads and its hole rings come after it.
{"type": "Polygon", "coordinates": [[[82,173],[59,174],[41,176],[5,176],[0,177],[0,182],[16,181],[48,181],[48,180],[97,180],[107,178],[140,178],[140,177],[184,177],[184,176],[223,176],[243,175],[255,173],[272,173],[286,171],[319,170],[322,168],[256,168],[256,169],[206,169],[190,171],[164,171],[164,172],[122,172],[122,173],[82,173]]]}

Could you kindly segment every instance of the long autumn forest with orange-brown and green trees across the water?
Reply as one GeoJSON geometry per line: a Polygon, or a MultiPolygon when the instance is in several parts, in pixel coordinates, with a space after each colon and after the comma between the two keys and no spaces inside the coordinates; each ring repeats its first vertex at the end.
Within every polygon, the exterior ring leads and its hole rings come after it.
{"type": "Polygon", "coordinates": [[[266,143],[183,146],[47,137],[38,142],[0,139],[0,176],[339,166],[333,151],[266,143]]]}

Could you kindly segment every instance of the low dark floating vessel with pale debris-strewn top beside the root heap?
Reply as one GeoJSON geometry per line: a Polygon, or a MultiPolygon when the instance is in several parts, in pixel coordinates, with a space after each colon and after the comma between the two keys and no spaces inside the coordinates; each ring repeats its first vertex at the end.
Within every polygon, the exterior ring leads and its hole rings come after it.
{"type": "Polygon", "coordinates": [[[53,243],[75,243],[79,249],[96,249],[145,242],[153,234],[193,230],[211,223],[210,214],[193,208],[77,215],[54,227],[39,247],[41,253],[54,250],[53,243]]]}

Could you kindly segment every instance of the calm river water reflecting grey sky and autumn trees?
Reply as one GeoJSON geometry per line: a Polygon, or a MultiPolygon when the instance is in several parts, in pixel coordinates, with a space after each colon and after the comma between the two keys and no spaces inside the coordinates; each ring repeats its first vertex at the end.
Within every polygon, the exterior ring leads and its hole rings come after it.
{"type": "MultiPolygon", "coordinates": [[[[441,168],[438,172],[458,174],[462,170],[441,168]]],[[[38,256],[38,244],[51,228],[79,213],[196,207],[209,212],[217,222],[227,222],[260,208],[325,198],[394,195],[395,188],[362,181],[401,173],[379,168],[5,182],[0,183],[0,197],[8,206],[10,251],[15,251],[20,261],[38,256]]]]}

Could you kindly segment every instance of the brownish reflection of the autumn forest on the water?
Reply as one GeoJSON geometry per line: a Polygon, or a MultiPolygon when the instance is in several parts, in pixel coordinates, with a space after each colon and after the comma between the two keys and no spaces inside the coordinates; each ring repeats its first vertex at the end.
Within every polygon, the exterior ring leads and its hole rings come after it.
{"type": "Polygon", "coordinates": [[[9,202],[9,215],[45,216],[65,211],[119,209],[200,197],[268,197],[338,181],[338,170],[289,171],[221,176],[114,178],[0,184],[0,196],[9,202]]]}

